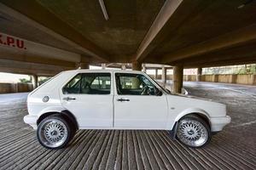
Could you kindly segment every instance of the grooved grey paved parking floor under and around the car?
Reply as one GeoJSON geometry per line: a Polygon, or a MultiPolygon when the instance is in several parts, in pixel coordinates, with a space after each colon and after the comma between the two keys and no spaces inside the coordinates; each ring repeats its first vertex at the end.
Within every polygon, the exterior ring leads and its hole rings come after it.
{"type": "Polygon", "coordinates": [[[0,95],[0,169],[256,169],[256,88],[185,82],[189,94],[228,105],[232,122],[204,149],[166,131],[79,131],[62,150],[46,150],[23,121],[26,94],[0,95]]]}

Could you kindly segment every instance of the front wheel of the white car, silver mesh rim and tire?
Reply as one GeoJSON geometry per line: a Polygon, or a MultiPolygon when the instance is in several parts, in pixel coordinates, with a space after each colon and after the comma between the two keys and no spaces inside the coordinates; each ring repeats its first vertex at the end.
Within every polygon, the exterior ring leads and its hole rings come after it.
{"type": "Polygon", "coordinates": [[[201,148],[212,138],[207,122],[195,115],[184,116],[177,122],[177,139],[191,148],[201,148]]]}

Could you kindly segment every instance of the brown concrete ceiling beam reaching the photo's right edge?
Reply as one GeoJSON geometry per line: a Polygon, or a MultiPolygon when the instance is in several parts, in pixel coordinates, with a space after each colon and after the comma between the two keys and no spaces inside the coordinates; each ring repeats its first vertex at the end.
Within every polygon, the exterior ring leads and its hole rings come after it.
{"type": "Polygon", "coordinates": [[[256,25],[247,26],[237,31],[224,34],[219,37],[212,38],[207,42],[201,42],[184,48],[172,54],[166,54],[162,57],[161,62],[170,64],[179,59],[188,59],[202,54],[212,53],[225,48],[239,46],[246,42],[253,42],[256,40],[256,25]]]}

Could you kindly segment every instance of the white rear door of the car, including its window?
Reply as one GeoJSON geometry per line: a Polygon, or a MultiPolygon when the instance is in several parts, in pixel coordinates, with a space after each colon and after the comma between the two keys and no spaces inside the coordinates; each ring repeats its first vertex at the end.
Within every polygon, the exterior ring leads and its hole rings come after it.
{"type": "Polygon", "coordinates": [[[61,104],[76,116],[80,128],[113,127],[111,72],[84,72],[61,89],[61,104]]]}

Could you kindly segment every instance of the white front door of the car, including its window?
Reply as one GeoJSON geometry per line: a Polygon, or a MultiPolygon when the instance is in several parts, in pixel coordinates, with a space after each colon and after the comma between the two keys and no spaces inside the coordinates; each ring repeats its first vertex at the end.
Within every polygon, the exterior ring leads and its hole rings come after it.
{"type": "Polygon", "coordinates": [[[115,72],[114,77],[114,127],[165,129],[166,94],[143,74],[115,72]]]}

